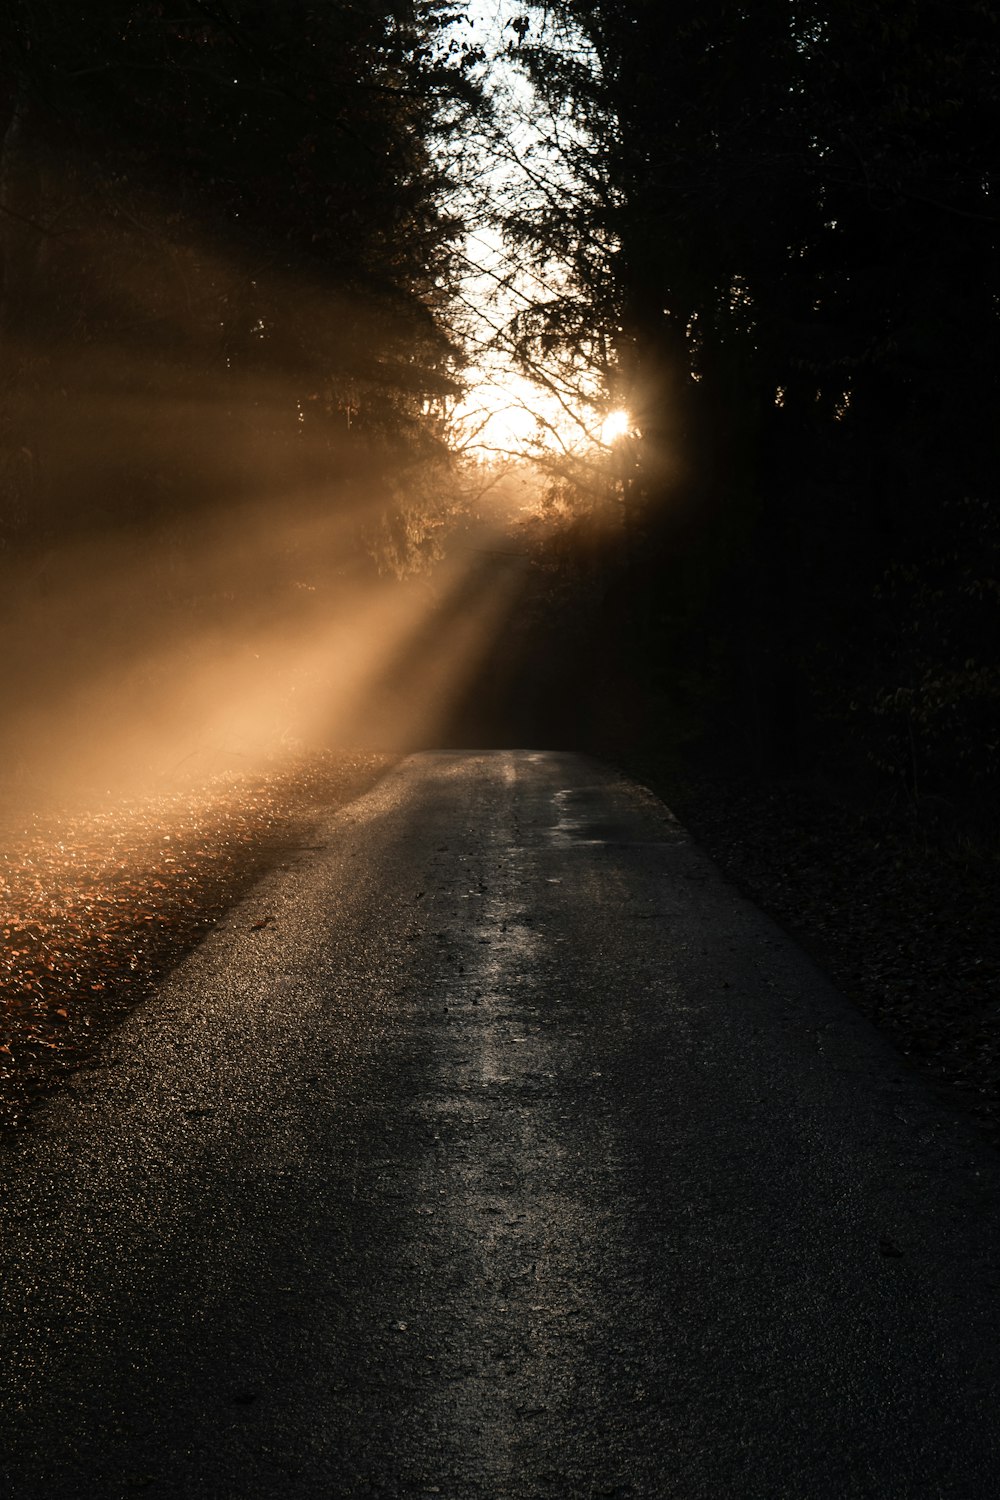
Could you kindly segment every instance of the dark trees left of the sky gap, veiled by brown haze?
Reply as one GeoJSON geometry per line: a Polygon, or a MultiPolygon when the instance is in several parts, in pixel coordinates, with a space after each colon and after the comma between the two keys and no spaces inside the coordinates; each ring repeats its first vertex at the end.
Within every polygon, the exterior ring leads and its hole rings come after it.
{"type": "Polygon", "coordinates": [[[193,662],[198,630],[250,638],[433,546],[460,363],[442,164],[475,102],[451,10],[3,6],[15,728],[115,663],[127,698],[171,633],[193,662]]]}

